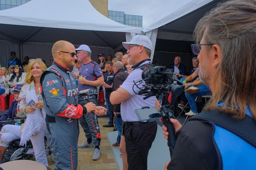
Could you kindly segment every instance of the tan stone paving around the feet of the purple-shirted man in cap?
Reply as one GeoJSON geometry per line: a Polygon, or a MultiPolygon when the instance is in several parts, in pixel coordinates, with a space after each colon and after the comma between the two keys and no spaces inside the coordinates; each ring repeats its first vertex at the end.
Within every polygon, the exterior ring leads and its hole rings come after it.
{"type": "MultiPolygon", "coordinates": [[[[116,161],[114,159],[113,152],[108,142],[107,133],[112,132],[113,128],[104,128],[102,125],[107,124],[108,118],[98,118],[100,125],[100,135],[101,135],[101,144],[100,144],[100,159],[92,160],[92,155],[94,153],[94,148],[78,148],[78,166],[77,170],[95,170],[95,169],[108,169],[108,170],[117,170],[116,161]]],[[[84,131],[80,126],[80,134],[78,138],[78,144],[83,143],[86,140],[84,136],[84,131]]],[[[54,163],[50,157],[47,157],[48,164],[51,169],[54,168],[54,163]]]]}

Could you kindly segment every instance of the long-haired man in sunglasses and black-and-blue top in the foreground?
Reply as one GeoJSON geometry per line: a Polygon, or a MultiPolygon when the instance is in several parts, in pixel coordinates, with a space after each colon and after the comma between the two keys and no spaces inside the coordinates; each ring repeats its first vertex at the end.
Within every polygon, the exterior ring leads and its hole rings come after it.
{"type": "Polygon", "coordinates": [[[198,55],[201,80],[211,88],[212,98],[184,127],[171,119],[178,131],[167,169],[252,169],[256,154],[256,1],[219,4],[199,20],[194,35],[197,44],[191,45],[192,51],[198,55]]]}

